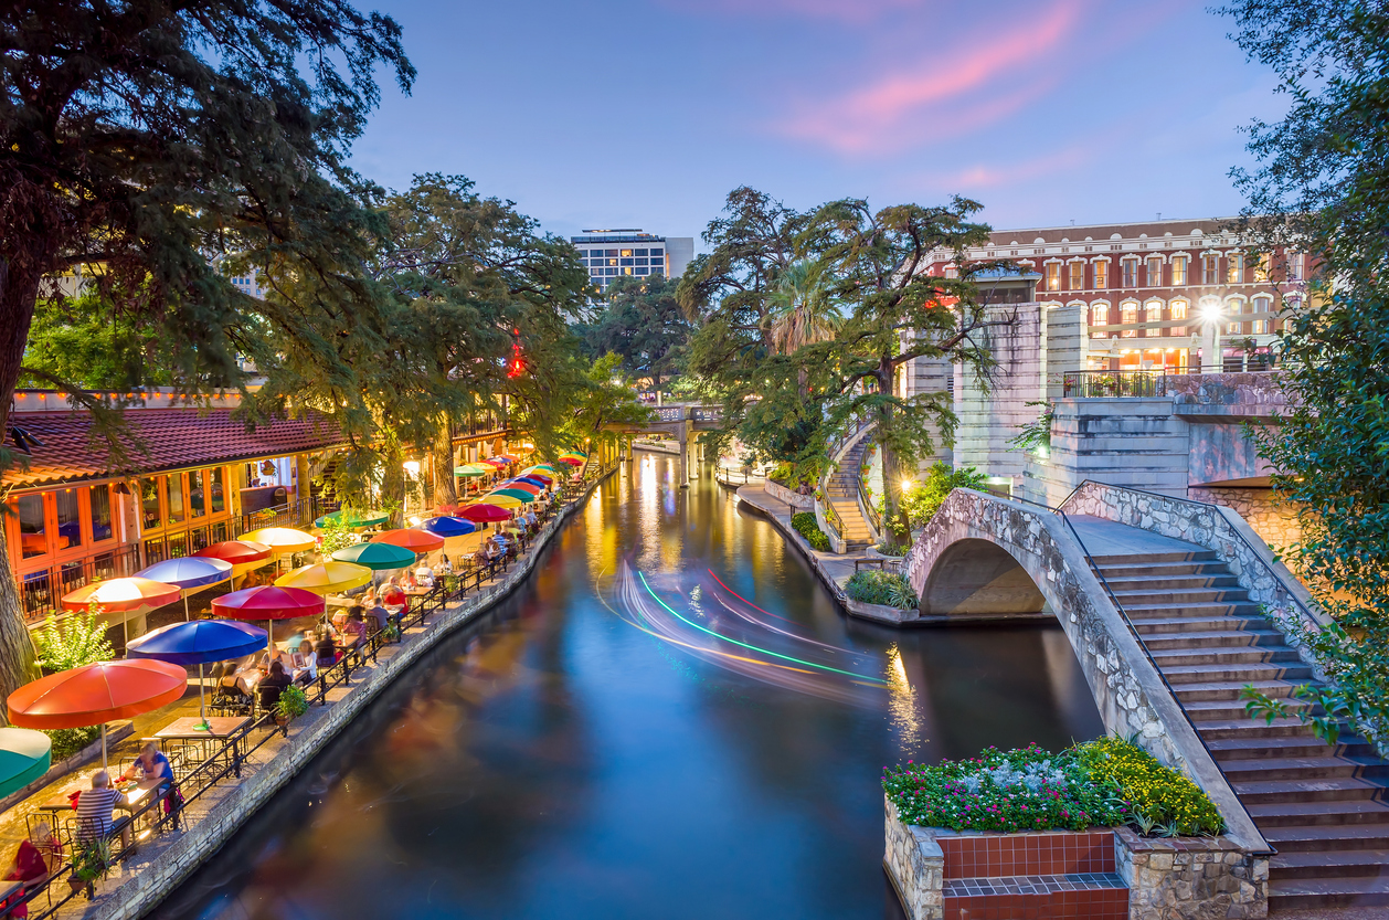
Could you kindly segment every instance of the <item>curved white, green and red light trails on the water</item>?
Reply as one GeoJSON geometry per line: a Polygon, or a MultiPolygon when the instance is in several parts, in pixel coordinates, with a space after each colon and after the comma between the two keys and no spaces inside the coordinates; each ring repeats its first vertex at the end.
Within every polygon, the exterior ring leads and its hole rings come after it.
{"type": "MultiPolygon", "coordinates": [[[[713,573],[710,574],[713,575],[713,573]]],[[[718,581],[717,575],[714,578],[718,581]]],[[[722,585],[722,581],[718,584],[722,585]]],[[[726,585],[724,586],[726,588],[726,585]]],[[[729,591],[729,595],[732,593],[729,591]]],[[[688,593],[688,599],[693,602],[690,605],[693,607],[692,616],[708,621],[710,625],[682,616],[656,592],[644,574],[633,573],[626,561],[618,568],[614,595],[617,607],[610,605],[608,609],[625,623],[663,642],[679,646],[696,657],[746,677],[801,693],[865,707],[879,707],[882,705],[881,693],[889,687],[889,681],[871,674],[882,666],[881,660],[875,662],[872,656],[840,649],[763,623],[746,610],[739,610],[735,602],[721,596],[717,591],[706,591],[696,585],[688,593]],[[707,593],[713,593],[720,606],[733,613],[738,620],[720,623],[713,611],[703,610],[701,600],[707,593]],[[735,624],[739,631],[732,635],[729,627],[735,624]],[[768,648],[768,643],[778,641],[786,642],[786,652],[768,648]],[[801,650],[801,646],[811,648],[801,650]],[[799,653],[789,653],[792,650],[799,653]],[[839,656],[840,662],[831,664],[814,660],[825,652],[839,656]],[[842,660],[842,656],[857,659],[860,670],[838,667],[836,664],[840,663],[854,664],[851,660],[842,660]]],[[[733,596],[736,598],[736,595],[733,596]]],[[[761,610],[754,605],[747,606],[761,610]]]]}

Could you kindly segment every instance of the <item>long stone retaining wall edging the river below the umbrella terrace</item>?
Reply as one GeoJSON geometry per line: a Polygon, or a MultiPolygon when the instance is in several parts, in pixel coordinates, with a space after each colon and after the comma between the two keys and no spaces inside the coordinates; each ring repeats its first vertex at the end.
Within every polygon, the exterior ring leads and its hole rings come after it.
{"type": "Polygon", "coordinates": [[[147,870],[135,876],[110,895],[93,905],[89,916],[97,920],[136,920],[168,896],[181,881],[188,878],[208,856],[215,853],[251,814],[283,788],[310,760],[313,760],[338,732],[365,709],[406,668],[414,664],[425,652],[438,645],[458,627],[490,610],[497,602],[515,589],[535,567],[540,550],[558,532],[564,521],[581,509],[589,495],[613,473],[600,475],[583,496],[564,509],[564,513],[550,525],[549,531],[535,542],[521,564],[515,566],[500,584],[492,585],[472,598],[453,603],[436,616],[422,632],[411,634],[407,642],[396,646],[394,655],[378,662],[372,673],[351,688],[343,699],[335,702],[328,716],[308,728],[292,734],[275,759],[249,780],[236,785],[225,795],[203,820],[189,828],[164,851],[160,859],[147,870]]]}

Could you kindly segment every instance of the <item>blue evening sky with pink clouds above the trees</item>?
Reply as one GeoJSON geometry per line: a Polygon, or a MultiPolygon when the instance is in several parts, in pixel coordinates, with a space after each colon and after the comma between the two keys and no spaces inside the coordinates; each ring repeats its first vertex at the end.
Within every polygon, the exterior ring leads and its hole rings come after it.
{"type": "Polygon", "coordinates": [[[358,1],[419,78],[356,167],[461,172],[564,235],[699,236],[739,185],[960,193],[997,228],[1226,215],[1239,126],[1282,106],[1208,0],[358,1]]]}

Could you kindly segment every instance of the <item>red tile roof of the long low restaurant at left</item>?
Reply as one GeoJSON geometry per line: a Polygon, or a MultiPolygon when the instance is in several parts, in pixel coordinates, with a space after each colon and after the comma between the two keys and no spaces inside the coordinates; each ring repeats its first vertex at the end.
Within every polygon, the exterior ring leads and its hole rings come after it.
{"type": "MultiPolygon", "coordinates": [[[[113,468],[106,442],[92,438],[92,417],[85,411],[15,413],[10,424],[43,442],[33,447],[28,468],[18,463],[4,473],[8,488],[32,488],[121,473],[161,473],[188,467],[281,457],[300,450],[319,450],[346,443],[332,420],[310,414],[281,418],[247,431],[229,409],[206,414],[199,409],[129,409],[126,431],[119,435],[129,456],[124,468],[113,468]],[[144,450],[140,450],[143,442],[144,450]]],[[[6,446],[13,439],[6,432],[6,446]]],[[[22,454],[19,454],[22,457],[22,454]]]]}

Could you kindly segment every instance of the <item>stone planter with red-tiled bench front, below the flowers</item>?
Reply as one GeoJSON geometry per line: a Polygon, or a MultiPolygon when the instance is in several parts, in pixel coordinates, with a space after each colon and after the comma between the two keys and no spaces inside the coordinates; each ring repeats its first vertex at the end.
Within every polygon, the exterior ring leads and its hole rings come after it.
{"type": "Polygon", "coordinates": [[[892,799],[883,803],[883,867],[910,920],[1268,916],[1268,856],[1228,837],[950,831],[903,824],[892,799]]]}

